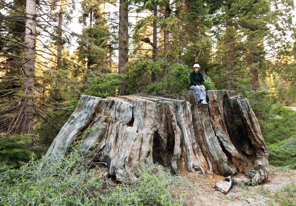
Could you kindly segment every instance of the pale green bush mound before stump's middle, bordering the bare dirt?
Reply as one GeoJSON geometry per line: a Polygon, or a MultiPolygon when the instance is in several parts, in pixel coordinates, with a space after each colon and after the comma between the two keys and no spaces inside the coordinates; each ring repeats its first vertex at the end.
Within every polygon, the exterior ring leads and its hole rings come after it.
{"type": "Polygon", "coordinates": [[[184,192],[177,189],[178,178],[157,170],[156,165],[143,166],[136,180],[123,181],[123,187],[110,189],[107,205],[183,205],[184,192]]]}

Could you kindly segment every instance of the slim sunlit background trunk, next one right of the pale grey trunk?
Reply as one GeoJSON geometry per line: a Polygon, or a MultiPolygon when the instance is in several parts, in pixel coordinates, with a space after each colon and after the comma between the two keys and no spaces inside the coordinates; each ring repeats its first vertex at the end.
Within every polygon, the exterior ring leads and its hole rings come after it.
{"type": "Polygon", "coordinates": [[[63,15],[64,15],[64,1],[60,1],[59,8],[59,24],[57,26],[57,36],[58,36],[58,45],[57,45],[57,68],[62,69],[62,50],[64,48],[64,42],[62,41],[62,24],[63,24],[63,15]]]}

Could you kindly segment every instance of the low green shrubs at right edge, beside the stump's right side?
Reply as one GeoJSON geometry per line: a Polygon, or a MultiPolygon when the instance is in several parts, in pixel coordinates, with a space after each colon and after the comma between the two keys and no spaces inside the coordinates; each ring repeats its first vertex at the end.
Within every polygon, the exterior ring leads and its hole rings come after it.
{"type": "Polygon", "coordinates": [[[274,101],[266,90],[244,94],[258,118],[261,132],[269,151],[269,162],[274,166],[296,167],[296,112],[274,101]]]}

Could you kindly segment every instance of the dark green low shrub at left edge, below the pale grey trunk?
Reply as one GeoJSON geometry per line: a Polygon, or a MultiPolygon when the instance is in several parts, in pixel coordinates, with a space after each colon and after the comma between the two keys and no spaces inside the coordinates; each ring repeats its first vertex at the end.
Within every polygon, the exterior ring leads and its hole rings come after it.
{"type": "Polygon", "coordinates": [[[31,159],[32,151],[28,147],[33,135],[11,135],[0,140],[0,162],[18,167],[20,162],[28,162],[31,159]]]}

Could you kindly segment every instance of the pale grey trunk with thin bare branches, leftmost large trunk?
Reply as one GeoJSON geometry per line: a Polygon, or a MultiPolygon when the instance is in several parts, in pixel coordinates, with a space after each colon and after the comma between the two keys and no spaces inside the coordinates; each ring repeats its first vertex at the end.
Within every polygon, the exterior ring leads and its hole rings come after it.
{"type": "Polygon", "coordinates": [[[22,94],[20,111],[17,114],[17,131],[19,134],[33,133],[34,118],[34,82],[35,82],[35,52],[36,52],[36,0],[26,2],[26,29],[23,69],[22,94]]]}

